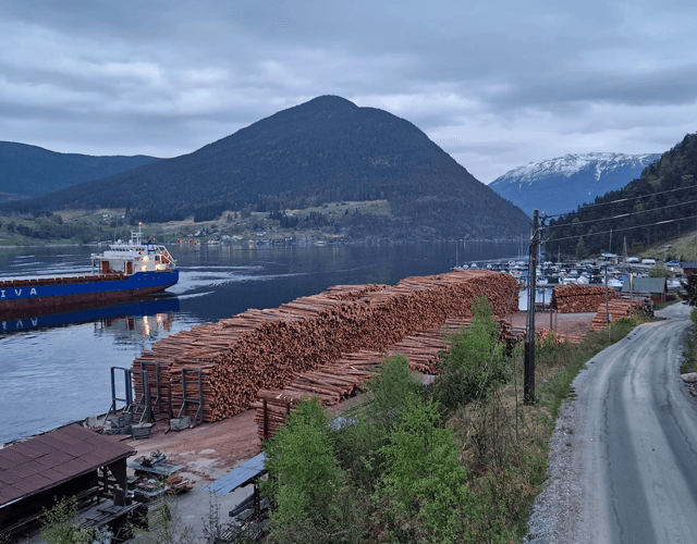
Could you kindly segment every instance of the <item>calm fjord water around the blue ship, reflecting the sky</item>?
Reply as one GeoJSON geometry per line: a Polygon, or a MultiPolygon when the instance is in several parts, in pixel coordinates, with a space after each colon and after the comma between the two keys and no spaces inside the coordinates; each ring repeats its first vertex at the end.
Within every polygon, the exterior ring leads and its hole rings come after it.
{"type": "MultiPolygon", "coordinates": [[[[0,279],[86,274],[97,247],[0,249],[0,279]]],[[[111,404],[111,367],[127,368],[169,334],[274,308],[332,285],[395,284],[457,263],[508,260],[515,243],[172,246],[180,282],[146,302],[0,320],[0,444],[47,431],[111,404]]],[[[118,374],[119,375],[119,374],[118,374]]],[[[121,378],[117,396],[123,397],[121,378]]]]}

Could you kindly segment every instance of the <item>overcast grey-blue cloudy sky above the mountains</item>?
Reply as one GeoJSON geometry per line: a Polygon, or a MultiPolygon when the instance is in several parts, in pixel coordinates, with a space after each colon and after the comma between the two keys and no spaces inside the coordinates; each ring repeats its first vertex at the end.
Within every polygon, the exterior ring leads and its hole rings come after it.
{"type": "Polygon", "coordinates": [[[697,131],[697,2],[0,1],[0,140],[175,157],[319,95],[478,180],[697,131]]]}

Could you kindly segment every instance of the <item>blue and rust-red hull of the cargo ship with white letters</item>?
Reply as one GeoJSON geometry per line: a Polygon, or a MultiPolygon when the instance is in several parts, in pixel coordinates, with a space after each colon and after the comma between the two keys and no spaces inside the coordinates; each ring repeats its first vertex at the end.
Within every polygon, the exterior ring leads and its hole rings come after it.
{"type": "Polygon", "coordinates": [[[162,292],[179,270],[0,282],[0,316],[49,313],[66,308],[132,300],[162,292]]]}

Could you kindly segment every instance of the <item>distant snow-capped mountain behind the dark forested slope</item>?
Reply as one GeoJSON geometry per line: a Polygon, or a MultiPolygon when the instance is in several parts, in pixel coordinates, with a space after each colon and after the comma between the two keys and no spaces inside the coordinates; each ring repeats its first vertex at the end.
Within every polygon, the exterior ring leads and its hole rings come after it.
{"type": "Polygon", "coordinates": [[[533,210],[565,213],[617,190],[641,175],[659,153],[565,154],[530,162],[498,177],[489,187],[528,215],[533,210]]]}

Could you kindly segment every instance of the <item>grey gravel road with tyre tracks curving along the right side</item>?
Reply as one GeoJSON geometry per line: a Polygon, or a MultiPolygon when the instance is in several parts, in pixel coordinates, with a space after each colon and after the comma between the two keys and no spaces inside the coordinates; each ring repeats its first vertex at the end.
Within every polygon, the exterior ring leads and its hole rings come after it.
{"type": "Polygon", "coordinates": [[[667,320],[636,327],[576,376],[530,542],[697,542],[697,408],[680,380],[689,310],[657,312],[667,320]]]}

